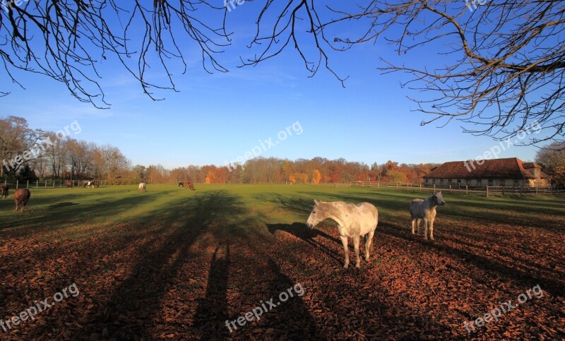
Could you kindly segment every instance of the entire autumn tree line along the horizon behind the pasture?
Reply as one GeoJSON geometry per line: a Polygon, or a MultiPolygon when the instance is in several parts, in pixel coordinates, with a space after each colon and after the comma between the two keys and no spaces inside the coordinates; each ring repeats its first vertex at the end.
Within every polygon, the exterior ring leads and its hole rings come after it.
{"type": "MultiPolygon", "coordinates": [[[[80,133],[73,122],[61,131],[32,129],[18,116],[0,118],[1,181],[13,180],[102,180],[106,184],[149,184],[191,181],[200,184],[335,184],[348,181],[422,182],[438,164],[399,164],[388,160],[371,165],[344,158],[286,160],[256,157],[244,164],[189,165],[167,169],[161,164],[132,166],[117,147],[97,145],[72,136],[80,133]]],[[[558,142],[537,152],[536,161],[552,183],[565,183],[565,150],[558,142]]]]}

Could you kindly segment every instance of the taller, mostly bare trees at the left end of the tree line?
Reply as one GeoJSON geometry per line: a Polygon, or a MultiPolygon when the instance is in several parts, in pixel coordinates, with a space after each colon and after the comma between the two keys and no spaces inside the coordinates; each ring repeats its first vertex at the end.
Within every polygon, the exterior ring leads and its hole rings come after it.
{"type": "Polygon", "coordinates": [[[55,132],[32,129],[22,117],[0,118],[1,179],[104,179],[121,184],[131,177],[131,161],[119,148],[72,138],[76,133],[76,121],[55,132]]]}

